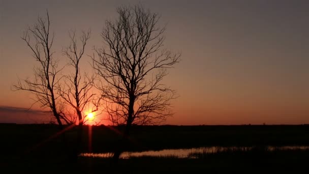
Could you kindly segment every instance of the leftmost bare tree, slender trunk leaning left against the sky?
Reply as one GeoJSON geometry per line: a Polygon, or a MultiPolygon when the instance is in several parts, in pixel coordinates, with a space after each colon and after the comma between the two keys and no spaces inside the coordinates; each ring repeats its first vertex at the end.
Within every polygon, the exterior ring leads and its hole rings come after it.
{"type": "Polygon", "coordinates": [[[18,84],[13,86],[14,90],[24,90],[36,95],[37,102],[42,108],[49,108],[60,128],[63,123],[72,124],[65,114],[64,103],[58,100],[56,86],[60,78],[58,74],[63,68],[58,68],[58,61],[54,59],[51,48],[54,35],[50,34],[50,20],[48,11],[47,17],[38,17],[37,23],[29,27],[21,37],[33,52],[33,57],[39,63],[34,68],[34,79],[18,79],[18,84]]]}

